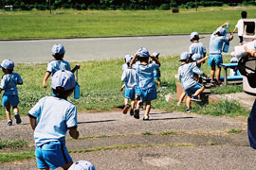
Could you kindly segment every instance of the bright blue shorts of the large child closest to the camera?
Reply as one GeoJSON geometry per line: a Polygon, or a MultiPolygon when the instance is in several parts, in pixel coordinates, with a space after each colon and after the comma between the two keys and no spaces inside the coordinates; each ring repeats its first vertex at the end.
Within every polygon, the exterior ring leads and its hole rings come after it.
{"type": "Polygon", "coordinates": [[[72,161],[64,143],[59,141],[36,146],[35,157],[37,167],[39,169],[44,169],[47,167],[50,169],[56,169],[72,161]]]}

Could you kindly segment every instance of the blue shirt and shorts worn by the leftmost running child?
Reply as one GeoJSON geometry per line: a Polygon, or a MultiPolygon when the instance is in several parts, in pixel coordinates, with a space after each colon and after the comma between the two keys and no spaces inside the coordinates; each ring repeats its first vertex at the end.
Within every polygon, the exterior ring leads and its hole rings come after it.
{"type": "Polygon", "coordinates": [[[3,106],[18,106],[17,84],[23,84],[23,79],[19,74],[11,73],[2,76],[0,88],[5,91],[2,97],[3,106]]]}

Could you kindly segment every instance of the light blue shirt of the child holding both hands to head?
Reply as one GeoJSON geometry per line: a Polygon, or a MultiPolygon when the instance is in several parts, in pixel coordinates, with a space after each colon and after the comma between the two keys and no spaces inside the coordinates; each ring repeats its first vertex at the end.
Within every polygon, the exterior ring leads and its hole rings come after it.
{"type": "Polygon", "coordinates": [[[142,90],[150,89],[155,86],[154,70],[159,69],[159,65],[155,62],[147,65],[136,63],[133,68],[137,70],[138,84],[142,90]]]}

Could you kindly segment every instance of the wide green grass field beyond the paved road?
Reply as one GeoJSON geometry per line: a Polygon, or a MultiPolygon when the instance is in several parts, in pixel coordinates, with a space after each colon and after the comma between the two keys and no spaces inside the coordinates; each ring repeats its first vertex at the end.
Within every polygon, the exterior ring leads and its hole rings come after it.
{"type": "MultiPolygon", "coordinates": [[[[171,10],[74,10],[0,11],[0,39],[53,39],[109,36],[140,36],[211,33],[230,21],[232,30],[241,18],[238,8],[199,8],[171,10]],[[56,11],[53,11],[56,12],[56,11]],[[57,34],[58,32],[58,34],[57,34]]],[[[247,8],[256,18],[255,7],[247,8]]]]}

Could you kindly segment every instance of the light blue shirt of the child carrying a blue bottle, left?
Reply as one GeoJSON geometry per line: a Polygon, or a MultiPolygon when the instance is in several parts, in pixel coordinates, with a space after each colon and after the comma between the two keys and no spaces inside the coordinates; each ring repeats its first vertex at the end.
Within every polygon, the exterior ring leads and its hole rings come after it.
{"type": "Polygon", "coordinates": [[[47,70],[46,72],[51,73],[51,76],[53,76],[58,70],[68,70],[70,71],[70,64],[65,60],[51,60],[47,64],[47,70]]]}

